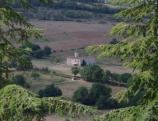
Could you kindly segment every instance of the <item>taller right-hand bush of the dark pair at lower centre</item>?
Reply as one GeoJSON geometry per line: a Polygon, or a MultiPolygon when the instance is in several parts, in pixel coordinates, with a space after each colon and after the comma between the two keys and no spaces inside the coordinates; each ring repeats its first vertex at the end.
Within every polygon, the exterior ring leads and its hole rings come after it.
{"type": "Polygon", "coordinates": [[[95,83],[90,89],[91,101],[95,104],[101,95],[105,96],[106,98],[109,98],[111,96],[111,92],[111,88],[107,85],[105,86],[100,83],[95,83]]]}

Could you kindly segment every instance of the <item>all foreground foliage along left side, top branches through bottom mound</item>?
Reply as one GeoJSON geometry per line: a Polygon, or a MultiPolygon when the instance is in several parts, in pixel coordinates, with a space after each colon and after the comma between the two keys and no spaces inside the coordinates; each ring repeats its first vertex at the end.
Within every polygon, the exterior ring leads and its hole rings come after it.
{"type": "MultiPolygon", "coordinates": [[[[29,9],[33,0],[1,0],[0,1],[0,88],[9,82],[10,60],[17,64],[26,64],[22,52],[27,48],[17,48],[12,42],[29,43],[29,39],[40,39],[39,29],[34,28],[12,6],[29,9]]],[[[51,0],[39,0],[48,3],[51,0]]],[[[78,115],[83,112],[93,112],[91,108],[60,98],[37,98],[37,96],[22,87],[9,85],[0,90],[0,120],[1,121],[41,121],[46,113],[78,115]]]]}

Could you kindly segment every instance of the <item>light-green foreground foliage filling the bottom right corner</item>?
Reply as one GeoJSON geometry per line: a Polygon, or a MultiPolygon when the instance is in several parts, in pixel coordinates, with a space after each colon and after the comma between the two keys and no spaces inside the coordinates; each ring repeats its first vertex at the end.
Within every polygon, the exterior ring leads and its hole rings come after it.
{"type": "Polygon", "coordinates": [[[147,105],[131,106],[113,110],[102,116],[96,116],[93,121],[158,121],[158,99],[147,105]]]}

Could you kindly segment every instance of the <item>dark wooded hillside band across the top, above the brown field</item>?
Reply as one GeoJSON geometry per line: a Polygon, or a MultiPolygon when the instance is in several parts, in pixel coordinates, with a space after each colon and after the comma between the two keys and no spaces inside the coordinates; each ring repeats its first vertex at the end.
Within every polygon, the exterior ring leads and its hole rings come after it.
{"type": "MultiPolygon", "coordinates": [[[[105,19],[106,14],[113,15],[120,11],[118,7],[108,4],[68,0],[55,1],[50,5],[33,3],[33,6],[35,9],[22,11],[27,19],[80,22],[105,19]]],[[[111,20],[114,20],[114,18],[111,20]]]]}

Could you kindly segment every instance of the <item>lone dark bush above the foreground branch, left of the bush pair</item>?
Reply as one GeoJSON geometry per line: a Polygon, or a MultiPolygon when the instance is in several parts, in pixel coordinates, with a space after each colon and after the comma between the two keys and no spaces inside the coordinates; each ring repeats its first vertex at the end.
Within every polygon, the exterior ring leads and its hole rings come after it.
{"type": "Polygon", "coordinates": [[[62,95],[62,91],[58,87],[55,87],[54,84],[51,84],[47,86],[45,89],[39,91],[40,98],[56,97],[61,95],[62,95]]]}

